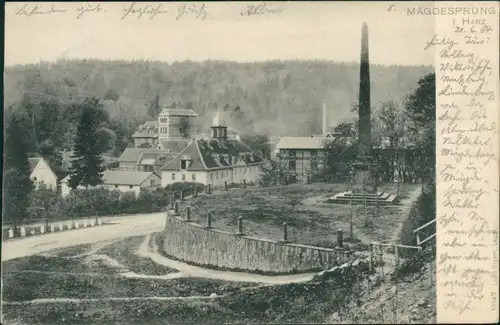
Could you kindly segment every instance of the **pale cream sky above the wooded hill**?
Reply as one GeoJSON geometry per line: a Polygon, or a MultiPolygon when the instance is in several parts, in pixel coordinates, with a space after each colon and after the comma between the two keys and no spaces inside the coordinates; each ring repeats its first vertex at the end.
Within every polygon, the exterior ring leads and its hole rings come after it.
{"type": "MultiPolygon", "coordinates": [[[[196,13],[176,19],[181,3],[161,3],[154,18],[126,10],[148,3],[97,4],[22,2],[6,4],[5,64],[37,63],[63,58],[143,59],[158,61],[231,60],[239,62],[318,59],[359,61],[361,26],[369,27],[370,62],[384,65],[433,65],[425,42],[434,34],[432,16],[407,16],[406,8],[432,3],[395,2],[202,2],[187,3],[196,13]],[[242,15],[248,5],[279,10],[242,15]],[[27,5],[26,7],[23,7],[27,5]],[[133,6],[132,6],[133,5],[133,6]],[[38,9],[33,11],[33,7],[38,9]],[[24,8],[24,11],[21,10],[24,8]]],[[[149,3],[152,8],[160,3],[149,3]]]]}

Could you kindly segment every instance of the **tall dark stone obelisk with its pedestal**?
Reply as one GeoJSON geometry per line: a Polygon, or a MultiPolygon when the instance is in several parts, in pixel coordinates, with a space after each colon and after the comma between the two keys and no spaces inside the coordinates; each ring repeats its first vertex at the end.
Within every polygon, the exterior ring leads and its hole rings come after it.
{"type": "Polygon", "coordinates": [[[370,61],[368,52],[368,26],[361,28],[361,62],[359,71],[358,156],[354,164],[353,194],[375,194],[371,175],[372,135],[370,101],[370,61]]]}

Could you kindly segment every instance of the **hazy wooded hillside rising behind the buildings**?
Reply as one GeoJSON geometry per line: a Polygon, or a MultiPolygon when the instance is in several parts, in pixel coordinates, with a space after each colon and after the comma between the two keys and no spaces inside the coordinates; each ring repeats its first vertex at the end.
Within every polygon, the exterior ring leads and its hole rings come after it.
{"type": "MultiPolygon", "coordinates": [[[[433,70],[431,66],[372,65],[372,105],[399,101],[433,70]]],[[[228,105],[233,112],[231,126],[242,132],[299,136],[321,132],[323,100],[328,101],[331,123],[354,115],[351,107],[357,102],[359,65],[62,60],[7,67],[4,80],[5,106],[19,106],[23,101],[21,106],[31,106],[35,112],[35,124],[52,123],[67,143],[74,134],[77,112],[56,110],[49,118],[42,111],[54,110],[54,105],[71,107],[91,96],[101,99],[113,123],[127,126],[119,131],[122,137],[131,135],[139,122],[156,118],[158,108],[152,104],[156,95],[160,106],[192,105],[200,116],[199,127],[206,131],[216,107],[228,105]],[[237,106],[240,109],[234,112],[237,106]]],[[[115,128],[111,127],[116,133],[115,128]]]]}

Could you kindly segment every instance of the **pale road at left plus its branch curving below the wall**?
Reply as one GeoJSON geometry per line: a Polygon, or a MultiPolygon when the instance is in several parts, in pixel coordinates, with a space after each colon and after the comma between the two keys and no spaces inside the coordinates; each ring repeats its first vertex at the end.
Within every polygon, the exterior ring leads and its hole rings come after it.
{"type": "Polygon", "coordinates": [[[50,233],[40,236],[11,239],[2,243],[2,261],[18,257],[40,254],[53,249],[94,244],[104,241],[120,240],[126,237],[146,235],[146,240],[137,252],[149,257],[157,264],[166,265],[180,271],[185,277],[211,278],[225,281],[255,282],[266,284],[285,284],[306,282],[312,280],[316,273],[302,273],[294,275],[266,276],[244,272],[228,272],[204,269],[186,263],[173,261],[156,252],[156,247],[148,247],[149,236],[161,231],[165,227],[165,213],[153,213],[124,217],[108,217],[103,221],[109,224],[50,233]]]}

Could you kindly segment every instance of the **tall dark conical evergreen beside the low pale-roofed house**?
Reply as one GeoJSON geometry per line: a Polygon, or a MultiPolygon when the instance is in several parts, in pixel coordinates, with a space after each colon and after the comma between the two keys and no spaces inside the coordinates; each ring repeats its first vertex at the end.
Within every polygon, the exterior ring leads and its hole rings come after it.
{"type": "Polygon", "coordinates": [[[100,109],[101,105],[96,98],[87,98],[82,104],[68,181],[68,185],[73,189],[78,185],[88,188],[102,184],[102,146],[97,134],[101,122],[100,109]]]}

